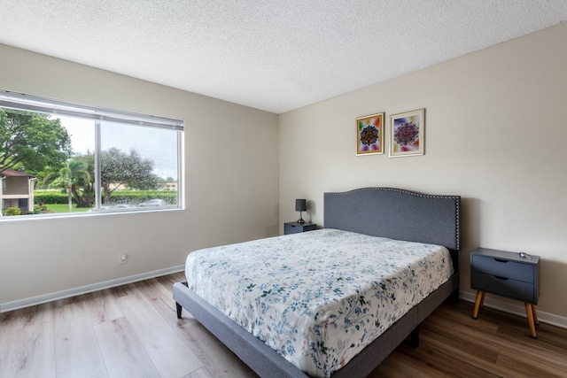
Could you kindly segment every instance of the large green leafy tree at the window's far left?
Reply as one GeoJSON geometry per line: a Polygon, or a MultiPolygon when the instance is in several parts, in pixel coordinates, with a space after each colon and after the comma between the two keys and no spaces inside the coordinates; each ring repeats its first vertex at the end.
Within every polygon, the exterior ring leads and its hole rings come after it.
{"type": "Polygon", "coordinates": [[[71,156],[71,138],[49,114],[0,108],[0,172],[28,173],[45,166],[63,166],[71,156]]]}

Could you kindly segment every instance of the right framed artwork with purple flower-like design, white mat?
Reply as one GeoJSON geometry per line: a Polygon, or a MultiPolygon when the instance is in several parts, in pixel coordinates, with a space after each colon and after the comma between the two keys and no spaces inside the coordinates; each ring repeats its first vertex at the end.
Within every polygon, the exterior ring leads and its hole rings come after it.
{"type": "Polygon", "coordinates": [[[390,116],[390,157],[423,155],[425,109],[390,116]]]}

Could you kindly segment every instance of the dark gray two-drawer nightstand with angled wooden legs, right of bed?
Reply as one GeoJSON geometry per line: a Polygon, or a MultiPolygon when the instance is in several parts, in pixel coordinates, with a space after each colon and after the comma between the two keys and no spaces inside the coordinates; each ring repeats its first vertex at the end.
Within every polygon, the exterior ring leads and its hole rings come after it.
{"type": "Polygon", "coordinates": [[[530,334],[536,337],[539,324],[535,305],[540,297],[540,257],[509,251],[477,248],[470,252],[470,289],[477,289],[472,314],[484,305],[485,294],[491,293],[524,302],[530,334]],[[525,257],[522,257],[525,256],[525,257]]]}

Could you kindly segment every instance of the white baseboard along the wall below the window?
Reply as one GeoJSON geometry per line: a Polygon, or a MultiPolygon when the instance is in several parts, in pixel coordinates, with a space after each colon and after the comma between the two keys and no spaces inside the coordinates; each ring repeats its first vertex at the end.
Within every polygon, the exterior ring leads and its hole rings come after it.
{"type": "Polygon", "coordinates": [[[58,299],[68,298],[68,297],[74,297],[97,290],[110,289],[116,286],[125,285],[127,283],[144,281],[150,278],[159,277],[161,275],[183,272],[184,269],[185,266],[172,266],[165,269],[154,270],[152,272],[147,272],[143,274],[135,274],[135,275],[130,275],[128,277],[117,278],[110,281],[97,282],[91,285],[81,286],[78,288],[57,291],[55,293],[44,294],[42,296],[29,297],[25,299],[15,300],[12,302],[6,302],[0,304],[0,313],[12,311],[12,310],[18,310],[20,308],[29,307],[32,305],[41,305],[43,303],[55,301],[58,299]]]}

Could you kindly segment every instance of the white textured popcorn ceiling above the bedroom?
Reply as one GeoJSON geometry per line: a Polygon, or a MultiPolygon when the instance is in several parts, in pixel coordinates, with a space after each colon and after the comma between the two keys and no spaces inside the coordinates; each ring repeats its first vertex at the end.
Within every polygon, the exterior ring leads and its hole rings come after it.
{"type": "Polygon", "coordinates": [[[276,113],[567,20],[567,0],[0,0],[0,10],[1,43],[276,113]]]}

